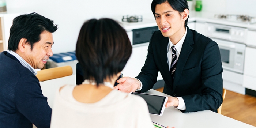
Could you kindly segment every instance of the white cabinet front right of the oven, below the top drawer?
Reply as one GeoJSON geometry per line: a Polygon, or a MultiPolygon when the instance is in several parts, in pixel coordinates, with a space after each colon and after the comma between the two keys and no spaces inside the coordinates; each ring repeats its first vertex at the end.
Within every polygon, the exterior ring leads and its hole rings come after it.
{"type": "Polygon", "coordinates": [[[256,56],[255,55],[256,55],[256,48],[246,47],[243,86],[252,90],[256,90],[256,56]]]}

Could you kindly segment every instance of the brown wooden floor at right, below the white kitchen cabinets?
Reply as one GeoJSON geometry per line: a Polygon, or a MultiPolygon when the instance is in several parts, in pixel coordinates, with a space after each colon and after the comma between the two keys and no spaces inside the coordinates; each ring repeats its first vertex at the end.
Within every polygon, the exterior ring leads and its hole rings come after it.
{"type": "MultiPolygon", "coordinates": [[[[163,88],[156,90],[163,92],[163,88]]],[[[227,90],[221,114],[256,127],[256,97],[227,90]]]]}

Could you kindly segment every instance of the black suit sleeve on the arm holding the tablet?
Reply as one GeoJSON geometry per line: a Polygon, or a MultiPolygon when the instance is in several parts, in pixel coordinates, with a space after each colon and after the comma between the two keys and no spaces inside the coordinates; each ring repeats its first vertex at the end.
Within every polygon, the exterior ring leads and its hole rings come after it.
{"type": "Polygon", "coordinates": [[[201,94],[182,96],[185,112],[200,110],[216,111],[222,104],[222,64],[217,43],[209,41],[204,49],[201,62],[201,94]]]}

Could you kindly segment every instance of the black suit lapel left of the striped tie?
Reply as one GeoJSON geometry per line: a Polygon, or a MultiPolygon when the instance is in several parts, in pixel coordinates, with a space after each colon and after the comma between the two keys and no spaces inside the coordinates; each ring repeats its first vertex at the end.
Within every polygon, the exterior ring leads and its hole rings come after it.
{"type": "MultiPolygon", "coordinates": [[[[172,78],[170,71],[169,71],[169,66],[167,63],[167,46],[169,43],[169,39],[168,37],[163,37],[163,39],[161,39],[162,42],[161,43],[161,62],[162,62],[162,66],[163,66],[163,71],[165,72],[165,76],[163,77],[167,77],[167,78],[172,78]]],[[[167,79],[168,80],[168,84],[167,85],[172,85],[172,79],[167,79]]]]}

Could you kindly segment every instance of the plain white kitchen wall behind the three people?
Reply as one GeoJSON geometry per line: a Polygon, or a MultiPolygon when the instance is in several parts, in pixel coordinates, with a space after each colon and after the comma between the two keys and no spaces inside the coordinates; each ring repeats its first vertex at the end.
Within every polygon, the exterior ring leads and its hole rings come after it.
{"type": "MultiPolygon", "coordinates": [[[[54,20],[53,53],[75,50],[82,23],[90,18],[151,14],[152,0],[6,0],[7,11],[38,12],[54,20]]],[[[193,0],[195,2],[195,0],[193,0]]],[[[256,0],[202,0],[204,12],[256,16],[256,0]]]]}

